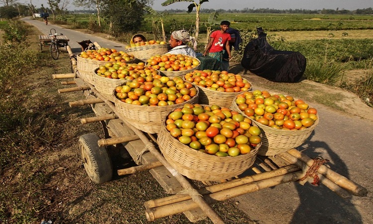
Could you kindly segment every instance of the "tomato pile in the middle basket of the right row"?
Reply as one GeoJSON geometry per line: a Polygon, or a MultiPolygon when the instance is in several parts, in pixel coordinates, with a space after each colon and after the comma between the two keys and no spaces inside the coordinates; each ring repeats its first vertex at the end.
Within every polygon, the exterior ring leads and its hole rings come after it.
{"type": "Polygon", "coordinates": [[[227,71],[194,70],[185,75],[185,80],[199,87],[219,92],[243,92],[251,90],[251,84],[241,77],[227,71]]]}

